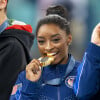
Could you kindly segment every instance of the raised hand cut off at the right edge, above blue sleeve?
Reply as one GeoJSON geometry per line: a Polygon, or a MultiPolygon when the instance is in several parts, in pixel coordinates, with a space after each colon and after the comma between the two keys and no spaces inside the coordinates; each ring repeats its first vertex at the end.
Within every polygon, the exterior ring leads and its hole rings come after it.
{"type": "Polygon", "coordinates": [[[96,25],[91,36],[91,42],[100,46],[100,23],[96,25]]]}

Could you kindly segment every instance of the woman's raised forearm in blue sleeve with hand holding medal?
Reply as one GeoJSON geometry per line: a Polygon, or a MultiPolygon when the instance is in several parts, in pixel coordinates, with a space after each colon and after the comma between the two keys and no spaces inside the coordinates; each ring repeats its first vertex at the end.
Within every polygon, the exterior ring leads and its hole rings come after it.
{"type": "Polygon", "coordinates": [[[39,64],[38,60],[33,59],[27,65],[19,100],[38,100],[41,82],[39,64]]]}

